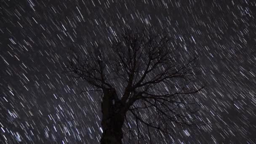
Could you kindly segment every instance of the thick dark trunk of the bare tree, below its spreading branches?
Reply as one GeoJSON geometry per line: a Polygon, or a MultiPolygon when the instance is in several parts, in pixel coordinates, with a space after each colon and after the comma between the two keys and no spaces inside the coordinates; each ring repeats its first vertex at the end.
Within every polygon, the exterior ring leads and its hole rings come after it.
{"type": "Polygon", "coordinates": [[[118,100],[115,90],[104,91],[101,112],[101,126],[103,130],[101,144],[122,144],[122,127],[125,112],[121,107],[121,102],[118,100]]]}

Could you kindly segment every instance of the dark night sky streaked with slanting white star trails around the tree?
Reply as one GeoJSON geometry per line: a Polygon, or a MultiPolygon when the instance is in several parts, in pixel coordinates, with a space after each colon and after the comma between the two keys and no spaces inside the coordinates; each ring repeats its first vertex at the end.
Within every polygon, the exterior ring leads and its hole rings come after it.
{"type": "Polygon", "coordinates": [[[177,143],[256,143],[255,16],[254,0],[1,0],[0,143],[99,143],[100,95],[64,70],[71,48],[124,25],[168,29],[199,57],[208,125],[177,143]]]}

